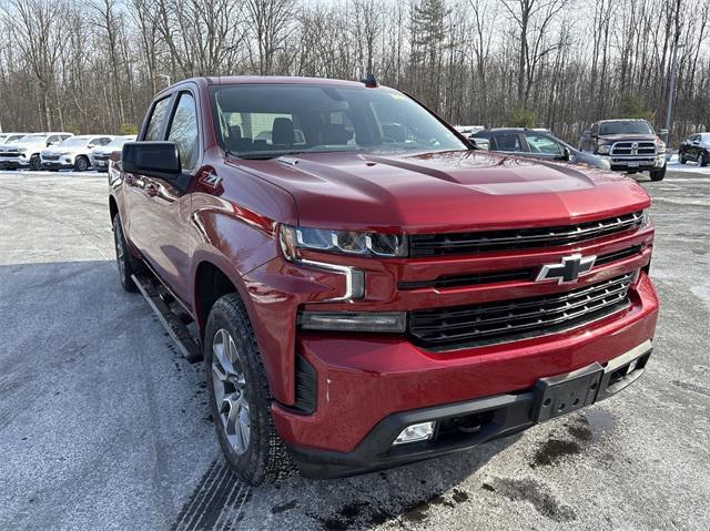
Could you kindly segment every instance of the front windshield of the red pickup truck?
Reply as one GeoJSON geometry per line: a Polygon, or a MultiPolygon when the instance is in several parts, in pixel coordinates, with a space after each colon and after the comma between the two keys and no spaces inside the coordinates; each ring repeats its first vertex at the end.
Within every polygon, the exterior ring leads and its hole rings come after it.
{"type": "Polygon", "coordinates": [[[426,109],[393,89],[221,85],[212,88],[211,99],[222,147],[244,159],[468,149],[426,109]]]}

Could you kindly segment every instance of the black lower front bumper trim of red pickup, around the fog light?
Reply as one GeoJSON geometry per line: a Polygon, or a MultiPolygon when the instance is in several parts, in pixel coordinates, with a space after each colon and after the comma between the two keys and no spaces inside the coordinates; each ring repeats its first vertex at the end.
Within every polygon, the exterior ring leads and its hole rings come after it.
{"type": "MultiPolygon", "coordinates": [[[[575,384],[589,374],[600,375],[600,379],[597,377],[592,380],[589,398],[584,404],[578,407],[561,404],[556,416],[598,402],[628,387],[643,374],[651,351],[651,341],[647,340],[610,359],[604,367],[595,361],[554,378],[556,385],[565,385],[575,384]]],[[[541,389],[538,387],[392,413],[348,452],[296,446],[291,446],[291,452],[303,476],[324,479],[369,472],[465,450],[525,430],[546,418],[549,412],[546,415],[545,406],[540,406],[541,389]],[[437,431],[430,440],[393,447],[393,441],[406,427],[433,420],[437,422],[437,431]],[[444,426],[447,429],[443,429],[444,426]]]]}

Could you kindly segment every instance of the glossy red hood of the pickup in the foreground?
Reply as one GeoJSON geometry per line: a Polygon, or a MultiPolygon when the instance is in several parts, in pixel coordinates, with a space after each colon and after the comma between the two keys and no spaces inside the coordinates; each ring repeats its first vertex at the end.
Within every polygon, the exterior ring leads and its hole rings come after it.
{"type": "Polygon", "coordinates": [[[646,208],[633,181],[480,151],[229,160],[290,192],[303,226],[432,233],[584,222],[646,208]]]}

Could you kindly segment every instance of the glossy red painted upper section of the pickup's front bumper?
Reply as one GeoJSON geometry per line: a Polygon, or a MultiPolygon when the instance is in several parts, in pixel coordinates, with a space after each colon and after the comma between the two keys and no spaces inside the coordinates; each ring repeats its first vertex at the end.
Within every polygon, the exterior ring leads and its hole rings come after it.
{"type": "Polygon", "coordinates": [[[611,359],[653,337],[658,298],[646,273],[627,309],[585,327],[446,353],[406,337],[305,333],[295,351],[313,368],[315,412],[274,404],[272,415],[293,448],[348,453],[383,419],[413,409],[513,395],[540,378],[611,359]]]}

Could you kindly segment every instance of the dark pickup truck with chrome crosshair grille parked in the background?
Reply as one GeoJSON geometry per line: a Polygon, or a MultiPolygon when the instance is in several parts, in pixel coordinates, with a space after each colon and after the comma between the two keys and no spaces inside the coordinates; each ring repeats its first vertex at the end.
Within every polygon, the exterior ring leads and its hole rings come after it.
{"type": "Polygon", "coordinates": [[[666,143],[646,120],[595,122],[579,139],[579,150],[604,156],[615,171],[648,171],[651,181],[666,176],[666,143]]]}

